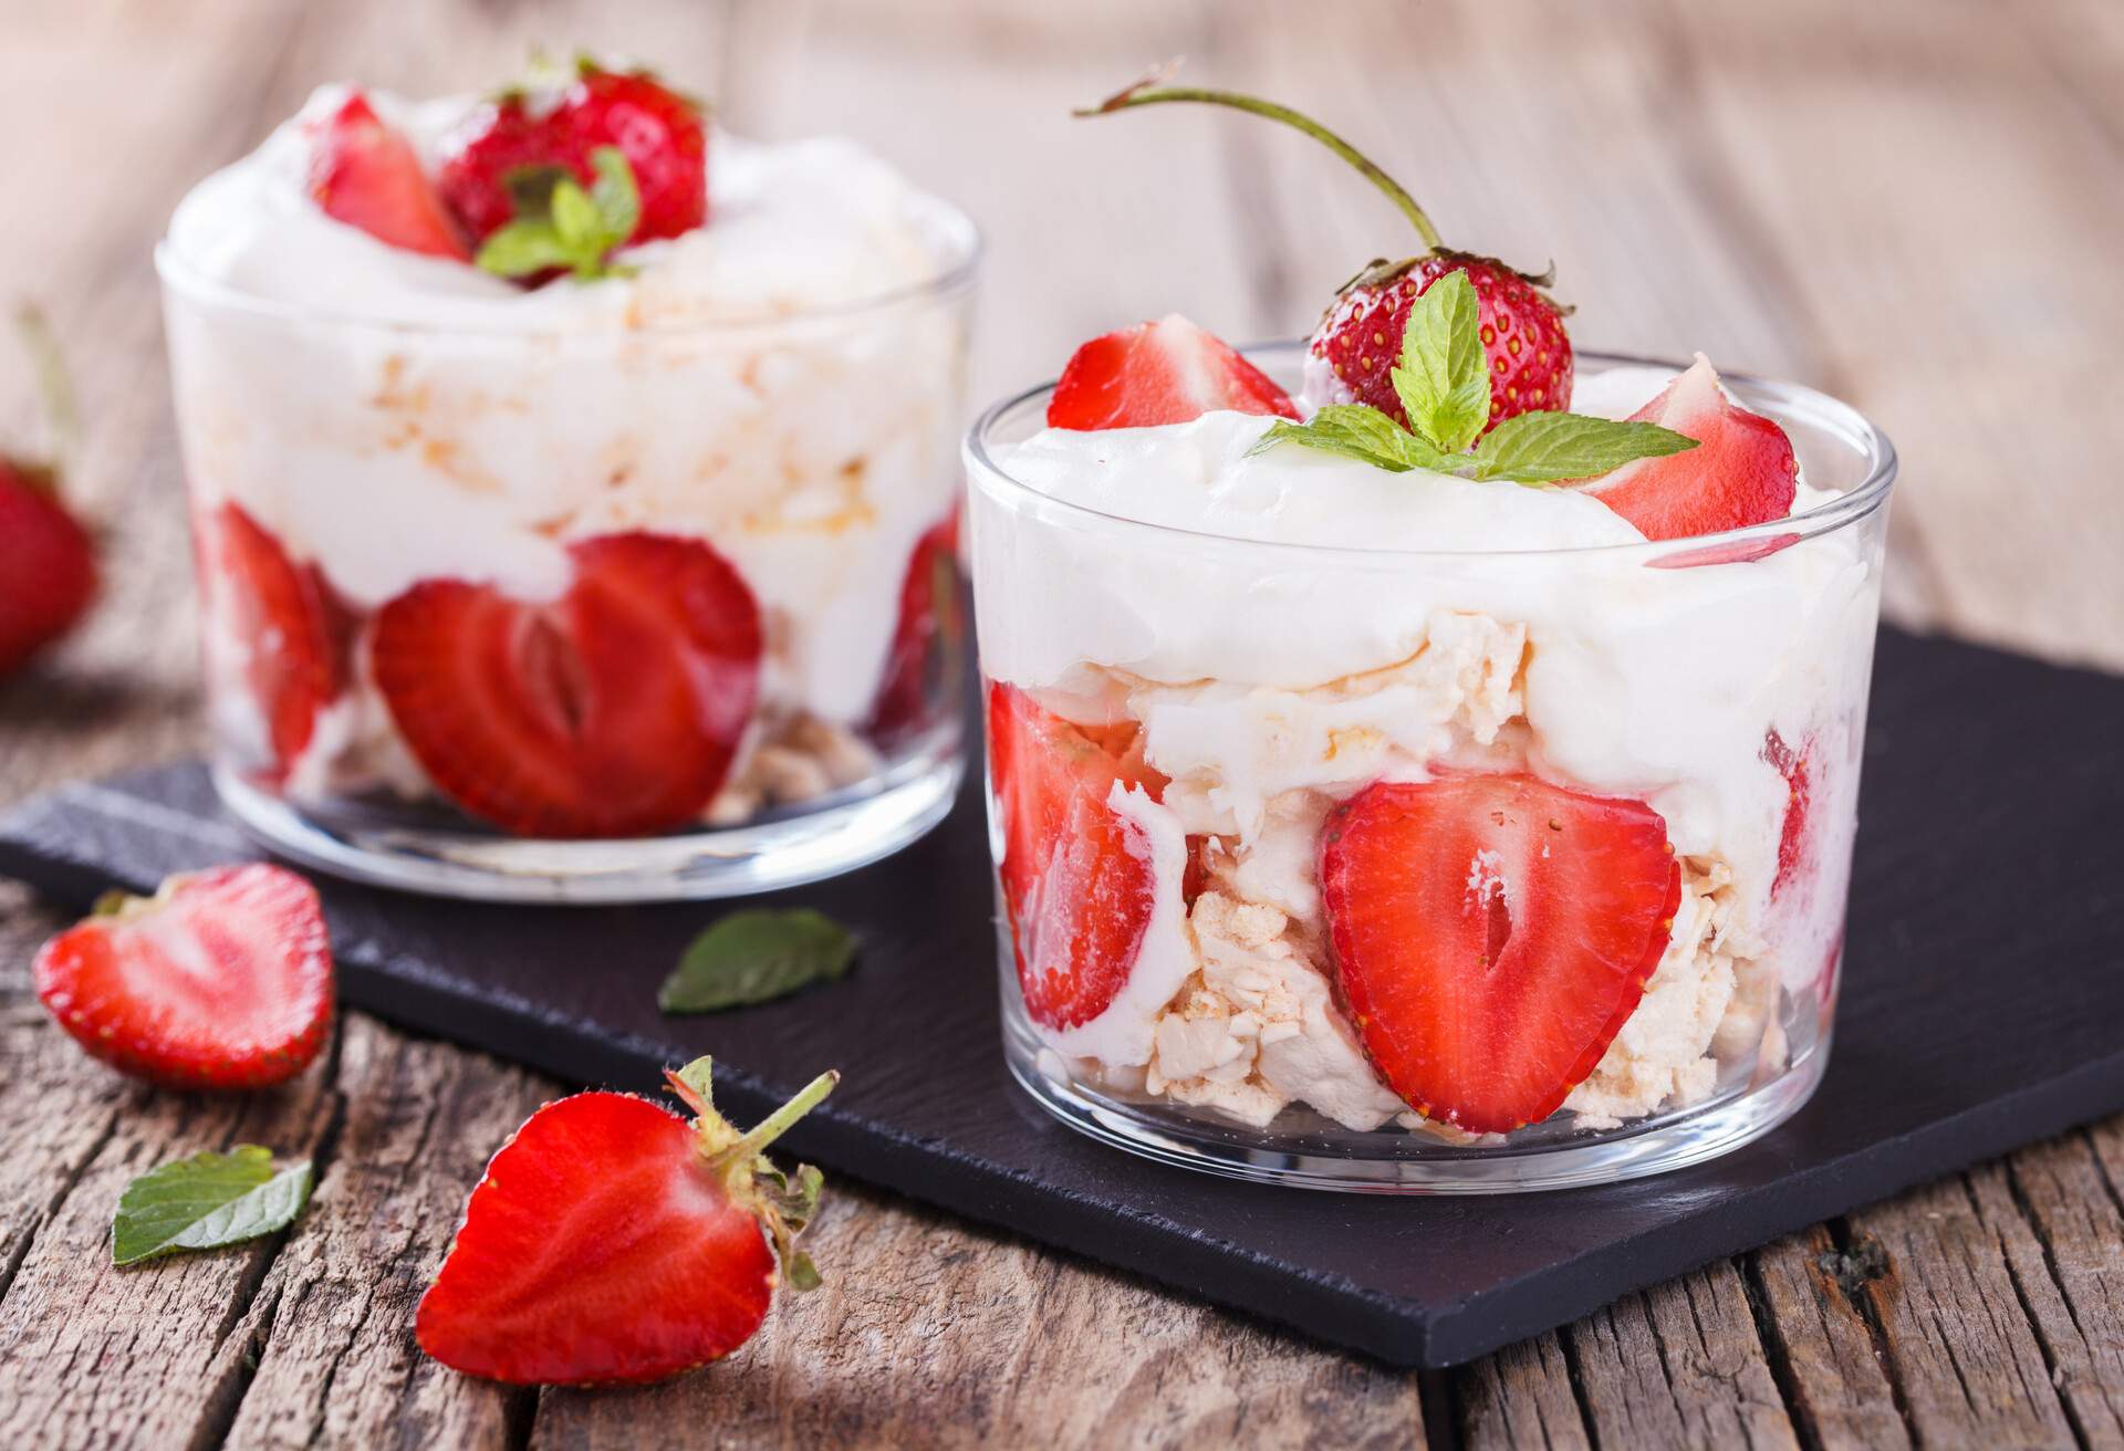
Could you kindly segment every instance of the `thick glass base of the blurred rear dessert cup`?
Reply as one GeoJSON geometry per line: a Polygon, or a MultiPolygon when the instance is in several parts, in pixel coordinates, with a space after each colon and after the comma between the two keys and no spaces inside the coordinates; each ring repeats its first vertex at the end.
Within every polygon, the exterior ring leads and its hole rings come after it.
{"type": "Polygon", "coordinates": [[[406,826],[382,812],[310,812],[215,767],[229,814],[274,852],[338,877],[431,897],[520,903],[703,901],[803,886],[913,843],[952,809],[958,750],[894,767],[881,786],[788,816],[667,837],[535,841],[406,826]]]}

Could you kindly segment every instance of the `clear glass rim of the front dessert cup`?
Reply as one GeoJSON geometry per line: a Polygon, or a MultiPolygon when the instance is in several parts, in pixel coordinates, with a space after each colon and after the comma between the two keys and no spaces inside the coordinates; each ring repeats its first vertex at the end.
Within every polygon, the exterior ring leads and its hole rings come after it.
{"type": "MultiPolygon", "coordinates": [[[[1277,338],[1270,342],[1245,344],[1238,351],[1260,365],[1266,357],[1300,353],[1306,346],[1302,338],[1277,338]]],[[[1689,363],[1676,363],[1674,359],[1646,357],[1638,353],[1597,353],[1578,351],[1578,359],[1604,363],[1610,368],[1663,368],[1672,372],[1682,372],[1689,363]]],[[[1183,540],[1213,540],[1217,544],[1234,544],[1243,548],[1294,552],[1306,557],[1344,557],[1344,559],[1527,559],[1527,557],[1625,557],[1631,552],[1652,554],[1652,563],[1678,567],[1693,563],[1746,563],[1750,559],[1769,554],[1774,550],[1763,548],[1759,554],[1748,552],[1752,544],[1769,544],[1778,540],[1776,548],[1786,548],[1788,544],[1799,544],[1825,533],[1833,533],[1861,518],[1873,514],[1888,501],[1888,493],[1897,478],[1897,453],[1888,436],[1875,427],[1865,414],[1861,414],[1850,404],[1831,397],[1818,389],[1810,389],[1801,382],[1784,382],[1778,378],[1765,378],[1761,374],[1748,372],[1720,372],[1718,380],[1740,391],[1767,399],[1771,406],[1788,404],[1797,410],[1814,414],[1837,442],[1848,444],[1852,453],[1867,459],[1867,476],[1833,495],[1831,499],[1816,503],[1814,508],[1799,510],[1797,514],[1786,514],[1784,518],[1771,518],[1761,525],[1746,525],[1742,529],[1720,529],[1716,533],[1693,533],[1678,540],[1629,540],[1616,544],[1568,544],[1551,548],[1402,548],[1402,546],[1376,546],[1376,544],[1302,544],[1291,540],[1255,540],[1238,533],[1219,533],[1215,529],[1187,529],[1183,525],[1158,525],[1143,518],[1130,518],[1126,514],[1113,514],[1107,510],[1092,508],[1087,503],[1070,503],[1068,499],[1058,499],[1049,493],[1034,489],[1032,484],[1015,478],[1005,470],[990,453],[990,436],[998,425],[1026,408],[1028,404],[1045,399],[1054,393],[1056,382],[1047,380],[1037,387],[1024,389],[1022,393],[1007,395],[981,410],[981,416],[973,421],[966,429],[966,438],[960,446],[960,455],[966,463],[969,482],[979,478],[994,478],[1005,484],[1013,495],[1032,499],[1043,510],[1056,510],[1064,518],[1075,516],[1083,523],[1096,525],[1119,525],[1121,529],[1143,529],[1151,533],[1168,533],[1183,540]],[[1784,537],[1791,535],[1791,537],[1784,537]],[[1695,559],[1703,554],[1706,559],[1695,559]],[[1727,559],[1716,559],[1714,554],[1727,554],[1727,559]]],[[[1776,416],[1776,414],[1774,414],[1776,416]]],[[[1519,486],[1519,484],[1514,484],[1519,486]]]]}

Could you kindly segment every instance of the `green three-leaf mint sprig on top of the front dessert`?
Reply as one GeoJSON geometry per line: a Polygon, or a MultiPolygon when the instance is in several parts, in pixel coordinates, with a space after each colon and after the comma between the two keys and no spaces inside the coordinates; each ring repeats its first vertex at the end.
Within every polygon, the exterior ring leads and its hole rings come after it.
{"type": "Polygon", "coordinates": [[[1289,442],[1395,474],[1429,470],[1542,486],[1697,446],[1697,440],[1657,423],[1553,410],[1514,414],[1483,433],[1489,421],[1489,359],[1478,312],[1466,272],[1444,274],[1408,308],[1402,357],[1391,374],[1393,393],[1408,410],[1406,429],[1370,404],[1330,404],[1306,423],[1272,425],[1251,453],[1289,442]]]}

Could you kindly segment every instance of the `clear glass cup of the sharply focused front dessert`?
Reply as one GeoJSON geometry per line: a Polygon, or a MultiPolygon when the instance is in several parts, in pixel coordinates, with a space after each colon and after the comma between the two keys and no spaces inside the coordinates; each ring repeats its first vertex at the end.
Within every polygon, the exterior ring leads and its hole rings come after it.
{"type": "MultiPolygon", "coordinates": [[[[1296,387],[1302,344],[1247,355],[1296,387]]],[[[1578,355],[1580,378],[1644,365],[1578,355]]],[[[1897,465],[1831,397],[1727,385],[1791,436],[1808,484],[1791,518],[1546,550],[1325,548],[1119,518],[1009,472],[1049,389],[973,427],[1005,1058],[1043,1109],[1187,1168],[1412,1194],[1661,1173],[1799,1111],[1829,1058],[1897,465]],[[1075,786],[1087,761],[1092,784],[1075,786]],[[1338,897],[1366,880],[1325,877],[1357,799],[1468,780],[1650,820],[1678,884],[1597,1062],[1546,1117],[1487,1132],[1387,1086],[1340,977],[1342,933],[1376,926],[1364,918],[1383,892],[1338,897]],[[1075,860],[1028,854],[1013,877],[1013,809],[1041,814],[1032,831],[1075,860]],[[1024,977],[1013,882],[1028,941],[1109,933],[1109,958],[1034,945],[1024,977]],[[1102,926],[1130,890],[1128,926],[1102,926]],[[1056,975],[1115,958],[1130,967],[1111,996],[1085,998],[1090,969],[1056,975]]]]}

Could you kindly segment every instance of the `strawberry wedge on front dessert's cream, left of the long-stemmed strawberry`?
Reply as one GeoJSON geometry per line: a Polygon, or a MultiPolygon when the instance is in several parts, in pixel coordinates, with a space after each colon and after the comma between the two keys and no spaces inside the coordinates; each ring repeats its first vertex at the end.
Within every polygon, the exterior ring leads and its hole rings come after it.
{"type": "Polygon", "coordinates": [[[1298,416],[1274,378],[1170,312],[1077,348],[1047,399],[1047,427],[1147,429],[1215,410],[1298,416]]]}

